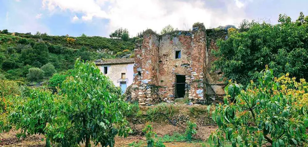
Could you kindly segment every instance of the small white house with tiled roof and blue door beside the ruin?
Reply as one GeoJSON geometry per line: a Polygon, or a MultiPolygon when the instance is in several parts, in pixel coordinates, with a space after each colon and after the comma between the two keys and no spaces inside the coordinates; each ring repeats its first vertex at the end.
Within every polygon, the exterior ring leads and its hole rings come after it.
{"type": "Polygon", "coordinates": [[[133,83],[134,58],[96,60],[95,65],[107,75],[115,86],[120,86],[122,93],[133,83]]]}

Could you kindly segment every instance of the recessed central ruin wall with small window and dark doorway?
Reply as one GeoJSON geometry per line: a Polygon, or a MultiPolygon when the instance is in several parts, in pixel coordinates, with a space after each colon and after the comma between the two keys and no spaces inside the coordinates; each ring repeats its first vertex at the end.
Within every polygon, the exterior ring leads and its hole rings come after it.
{"type": "Polygon", "coordinates": [[[163,34],[160,38],[158,95],[164,100],[182,97],[176,90],[179,87],[183,88],[185,94],[190,89],[191,36],[190,31],[174,31],[163,34]],[[177,75],[185,77],[186,84],[183,84],[183,81],[179,83],[176,80],[177,75]]]}

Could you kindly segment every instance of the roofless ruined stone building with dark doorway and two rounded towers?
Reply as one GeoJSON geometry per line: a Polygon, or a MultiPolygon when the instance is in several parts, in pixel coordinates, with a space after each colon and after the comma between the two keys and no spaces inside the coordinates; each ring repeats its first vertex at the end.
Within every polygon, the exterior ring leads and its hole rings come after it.
{"type": "Polygon", "coordinates": [[[226,37],[226,30],[206,30],[203,23],[162,35],[146,30],[135,44],[132,99],[140,105],[179,97],[202,104],[219,101],[224,82],[220,71],[211,72],[211,50],[226,37]]]}

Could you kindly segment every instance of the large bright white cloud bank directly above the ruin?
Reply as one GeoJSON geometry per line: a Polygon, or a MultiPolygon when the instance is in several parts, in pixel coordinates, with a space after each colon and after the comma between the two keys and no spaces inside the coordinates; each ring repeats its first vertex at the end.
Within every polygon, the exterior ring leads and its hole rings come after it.
{"type": "Polygon", "coordinates": [[[179,30],[187,30],[195,22],[203,22],[206,27],[239,24],[246,17],[241,8],[251,0],[241,1],[222,0],[219,8],[201,0],[43,0],[42,4],[51,12],[60,9],[82,15],[74,16],[72,21],[108,19],[109,32],[123,27],[134,36],[148,28],[160,32],[168,24],[179,30]]]}

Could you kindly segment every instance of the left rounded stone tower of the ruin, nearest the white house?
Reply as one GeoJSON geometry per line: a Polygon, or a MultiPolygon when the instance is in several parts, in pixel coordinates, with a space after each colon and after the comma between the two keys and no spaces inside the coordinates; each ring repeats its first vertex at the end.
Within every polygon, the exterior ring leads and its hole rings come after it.
{"type": "Polygon", "coordinates": [[[158,85],[158,46],[159,36],[152,30],[146,30],[143,38],[135,44],[134,83],[132,85],[132,99],[138,100],[140,105],[152,103],[156,100],[158,85]]]}

